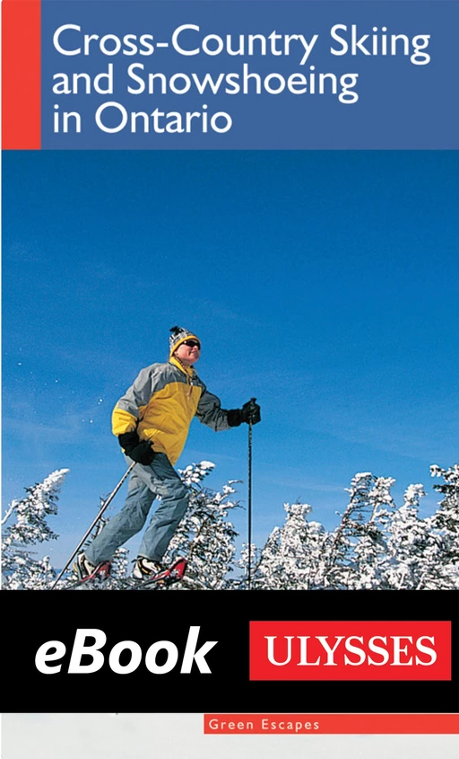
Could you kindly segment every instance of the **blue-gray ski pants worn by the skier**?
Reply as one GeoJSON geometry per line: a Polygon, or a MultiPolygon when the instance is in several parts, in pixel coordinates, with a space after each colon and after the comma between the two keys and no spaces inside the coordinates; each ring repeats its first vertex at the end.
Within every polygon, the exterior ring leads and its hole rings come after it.
{"type": "MultiPolygon", "coordinates": [[[[132,459],[125,458],[132,463],[132,459]]],[[[185,515],[189,499],[189,491],[166,454],[156,454],[148,465],[135,464],[124,507],[85,550],[86,558],[96,565],[110,560],[119,546],[142,530],[156,496],[160,496],[160,505],[145,530],[139,556],[160,561],[185,515]]]]}

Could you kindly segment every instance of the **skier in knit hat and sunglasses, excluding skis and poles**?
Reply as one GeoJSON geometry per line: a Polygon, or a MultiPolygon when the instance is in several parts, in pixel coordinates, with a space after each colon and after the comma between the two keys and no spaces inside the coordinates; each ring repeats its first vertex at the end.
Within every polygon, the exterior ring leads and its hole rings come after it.
{"type": "Polygon", "coordinates": [[[143,579],[160,573],[162,557],[188,505],[189,492],[173,464],[185,445],[191,420],[196,416],[219,432],[261,419],[254,401],[242,409],[221,409],[220,400],[209,393],[193,368],[201,341],[183,327],[172,327],[170,332],[169,361],[142,369],[113,410],[113,434],[127,463],[136,465],[124,507],[77,557],[81,579],[111,560],[120,545],[140,532],[156,496],[160,505],[143,535],[133,576],[143,579]]]}

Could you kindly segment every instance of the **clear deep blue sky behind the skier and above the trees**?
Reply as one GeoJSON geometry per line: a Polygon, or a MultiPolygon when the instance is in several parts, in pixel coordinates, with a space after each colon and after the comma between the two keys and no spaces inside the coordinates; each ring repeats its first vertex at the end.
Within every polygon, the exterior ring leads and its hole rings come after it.
{"type": "MultiPolygon", "coordinates": [[[[7,152],[3,173],[3,497],[70,469],[56,566],[125,470],[112,407],[174,324],[223,407],[262,406],[258,544],[284,502],[335,525],[356,472],[435,507],[429,464],[458,461],[457,153],[7,152]]],[[[247,480],[247,427],[196,420],[178,466],[202,459],[209,486],[247,480]]]]}

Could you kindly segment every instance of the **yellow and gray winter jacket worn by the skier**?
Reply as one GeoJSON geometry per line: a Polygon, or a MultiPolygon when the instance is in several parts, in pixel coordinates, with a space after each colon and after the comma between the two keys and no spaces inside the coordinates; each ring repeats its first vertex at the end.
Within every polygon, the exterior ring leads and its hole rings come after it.
{"type": "Polygon", "coordinates": [[[195,369],[171,357],[142,369],[113,410],[112,430],[117,436],[135,430],[141,440],[152,442],[154,451],[176,463],[194,416],[215,432],[230,429],[227,411],[195,369]]]}

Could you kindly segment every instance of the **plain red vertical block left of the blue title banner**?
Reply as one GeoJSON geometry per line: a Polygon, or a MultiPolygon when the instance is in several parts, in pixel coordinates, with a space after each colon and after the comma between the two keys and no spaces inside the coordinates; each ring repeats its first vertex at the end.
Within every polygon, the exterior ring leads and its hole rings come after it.
{"type": "Polygon", "coordinates": [[[2,3],[2,147],[39,150],[40,0],[2,3]]]}

